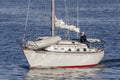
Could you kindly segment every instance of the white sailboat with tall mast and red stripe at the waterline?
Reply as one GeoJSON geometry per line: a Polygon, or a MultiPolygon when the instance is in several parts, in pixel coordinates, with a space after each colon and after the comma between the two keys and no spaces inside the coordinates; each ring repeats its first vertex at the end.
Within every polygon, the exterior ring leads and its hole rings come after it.
{"type": "MultiPolygon", "coordinates": [[[[88,47],[79,40],[63,40],[60,36],[55,36],[55,24],[60,27],[64,23],[55,17],[54,7],[52,0],[52,36],[26,41],[23,46],[30,68],[83,68],[97,65],[104,57],[104,42],[100,39],[87,39],[90,43],[88,47]]],[[[78,29],[71,30],[79,32],[78,29]]]]}

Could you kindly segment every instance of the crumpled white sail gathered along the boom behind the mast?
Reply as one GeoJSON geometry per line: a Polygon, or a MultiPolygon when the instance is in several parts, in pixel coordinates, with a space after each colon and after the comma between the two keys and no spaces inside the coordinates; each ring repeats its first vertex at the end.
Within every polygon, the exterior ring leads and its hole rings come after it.
{"type": "Polygon", "coordinates": [[[62,19],[59,20],[56,17],[55,17],[55,27],[64,28],[64,29],[68,29],[68,30],[80,33],[80,28],[77,28],[76,26],[73,26],[73,25],[68,25],[62,19]]]}

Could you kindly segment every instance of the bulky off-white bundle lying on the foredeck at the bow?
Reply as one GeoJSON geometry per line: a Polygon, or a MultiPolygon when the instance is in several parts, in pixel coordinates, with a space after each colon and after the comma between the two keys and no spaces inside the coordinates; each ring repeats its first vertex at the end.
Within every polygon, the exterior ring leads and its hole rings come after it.
{"type": "Polygon", "coordinates": [[[28,41],[26,47],[28,49],[41,49],[51,46],[61,40],[61,37],[39,37],[35,41],[28,41]]]}

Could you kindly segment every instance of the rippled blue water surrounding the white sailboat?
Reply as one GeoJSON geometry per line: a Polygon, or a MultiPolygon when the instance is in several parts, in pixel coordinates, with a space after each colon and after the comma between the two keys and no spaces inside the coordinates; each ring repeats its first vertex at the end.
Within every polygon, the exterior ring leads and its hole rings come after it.
{"type": "MultiPolygon", "coordinates": [[[[0,0],[0,80],[119,80],[120,0],[56,0],[56,16],[79,26],[87,37],[103,39],[105,57],[95,67],[83,69],[37,69],[29,65],[20,47],[28,0],[0,0]],[[66,14],[66,15],[65,15],[66,14]],[[67,19],[65,19],[67,18],[67,19]]],[[[31,0],[26,38],[50,35],[51,0],[31,0]]],[[[66,30],[57,29],[64,38],[66,30]]],[[[71,38],[76,33],[70,32],[71,38]]]]}

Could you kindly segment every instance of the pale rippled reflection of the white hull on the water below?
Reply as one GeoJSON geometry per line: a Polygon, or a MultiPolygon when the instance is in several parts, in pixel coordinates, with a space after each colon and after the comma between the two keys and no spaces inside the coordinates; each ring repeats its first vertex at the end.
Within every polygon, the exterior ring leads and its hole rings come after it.
{"type": "Polygon", "coordinates": [[[26,80],[76,80],[98,79],[101,65],[83,69],[34,69],[26,74],[26,80]]]}

